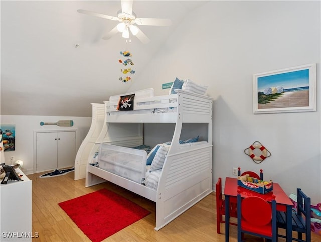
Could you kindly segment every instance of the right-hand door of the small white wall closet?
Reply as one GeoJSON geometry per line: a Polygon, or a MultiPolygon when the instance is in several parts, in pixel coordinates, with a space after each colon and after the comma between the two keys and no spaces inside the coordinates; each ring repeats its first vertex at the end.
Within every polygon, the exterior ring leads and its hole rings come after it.
{"type": "Polygon", "coordinates": [[[76,158],[76,133],[74,131],[57,132],[58,158],[57,167],[72,167],[76,158]]]}

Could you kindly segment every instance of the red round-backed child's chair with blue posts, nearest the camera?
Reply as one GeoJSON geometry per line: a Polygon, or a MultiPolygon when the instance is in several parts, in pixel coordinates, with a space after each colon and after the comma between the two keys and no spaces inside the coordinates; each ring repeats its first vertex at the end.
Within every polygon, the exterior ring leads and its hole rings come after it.
{"type": "Polygon", "coordinates": [[[277,241],[276,201],[273,195],[272,206],[261,197],[241,198],[237,194],[237,241],[242,242],[242,234],[277,241]]]}

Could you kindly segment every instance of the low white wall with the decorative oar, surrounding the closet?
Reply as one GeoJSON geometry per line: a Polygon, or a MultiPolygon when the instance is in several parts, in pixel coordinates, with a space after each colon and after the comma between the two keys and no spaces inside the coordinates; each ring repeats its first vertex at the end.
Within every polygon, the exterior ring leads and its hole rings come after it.
{"type": "Polygon", "coordinates": [[[88,133],[91,117],[58,117],[58,116],[16,116],[1,115],[0,124],[14,124],[16,126],[16,149],[14,151],[5,152],[6,164],[14,164],[10,162],[10,156],[14,156],[15,160],[22,160],[27,174],[34,172],[34,131],[44,130],[71,130],[77,129],[77,147],[78,150],[82,140],[88,133]],[[73,120],[74,125],[71,127],[63,127],[56,125],[40,125],[40,122],[57,122],[58,120],[73,120]]]}

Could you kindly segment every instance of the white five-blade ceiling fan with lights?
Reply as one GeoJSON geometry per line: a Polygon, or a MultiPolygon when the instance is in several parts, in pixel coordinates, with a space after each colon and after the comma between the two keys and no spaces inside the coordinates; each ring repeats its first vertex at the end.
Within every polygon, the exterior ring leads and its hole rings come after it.
{"type": "Polygon", "coordinates": [[[137,27],[137,25],[169,26],[172,24],[170,19],[136,18],[136,14],[132,11],[132,5],[133,0],[121,0],[121,10],[117,12],[117,17],[84,9],[78,9],[77,12],[119,21],[119,24],[117,24],[106,36],[103,37],[104,40],[110,39],[118,32],[122,33],[123,38],[129,38],[130,31],[131,34],[136,36],[142,43],[147,44],[150,39],[137,27]]]}

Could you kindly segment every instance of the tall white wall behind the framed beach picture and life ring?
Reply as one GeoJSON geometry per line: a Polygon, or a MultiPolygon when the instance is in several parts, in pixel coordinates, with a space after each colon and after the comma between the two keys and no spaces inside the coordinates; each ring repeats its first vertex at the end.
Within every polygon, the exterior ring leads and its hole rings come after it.
{"type": "Polygon", "coordinates": [[[208,85],[213,181],[232,176],[233,167],[263,169],[287,194],[300,187],[319,203],[320,16],[319,1],[211,1],[183,20],[129,91],[153,87],[166,94],[162,83],[175,77],[208,85]],[[317,63],[317,112],[252,113],[254,73],[308,63],[317,63]],[[254,141],[272,154],[260,164],[244,154],[254,141]]]}

